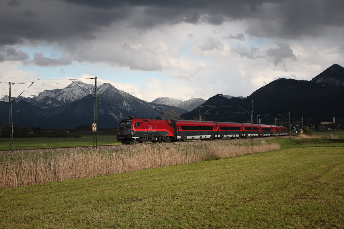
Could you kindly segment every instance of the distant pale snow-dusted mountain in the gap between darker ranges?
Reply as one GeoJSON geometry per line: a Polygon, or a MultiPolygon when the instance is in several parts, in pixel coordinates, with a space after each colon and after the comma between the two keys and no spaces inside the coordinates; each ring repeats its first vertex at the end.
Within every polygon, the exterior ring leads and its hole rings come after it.
{"type": "Polygon", "coordinates": [[[150,103],[157,103],[157,104],[165,104],[165,105],[169,105],[169,106],[176,106],[179,107],[181,109],[187,110],[187,111],[191,111],[194,108],[196,108],[199,104],[204,103],[205,100],[204,99],[200,99],[200,98],[193,98],[193,99],[189,99],[189,100],[178,100],[178,99],[173,99],[173,98],[169,98],[169,97],[159,97],[156,98],[155,100],[153,100],[150,103]]]}

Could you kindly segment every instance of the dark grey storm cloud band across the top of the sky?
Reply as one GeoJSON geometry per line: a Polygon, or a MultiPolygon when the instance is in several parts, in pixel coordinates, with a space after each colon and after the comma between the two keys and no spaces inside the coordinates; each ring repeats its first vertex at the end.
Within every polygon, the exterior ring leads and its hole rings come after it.
{"type": "MultiPolygon", "coordinates": [[[[344,22],[342,0],[26,0],[0,2],[1,36],[5,44],[24,40],[63,43],[96,39],[112,23],[145,30],[159,24],[222,24],[249,20],[252,36],[290,38],[320,35],[324,26],[344,22]]],[[[240,39],[240,37],[238,37],[240,39]]]]}

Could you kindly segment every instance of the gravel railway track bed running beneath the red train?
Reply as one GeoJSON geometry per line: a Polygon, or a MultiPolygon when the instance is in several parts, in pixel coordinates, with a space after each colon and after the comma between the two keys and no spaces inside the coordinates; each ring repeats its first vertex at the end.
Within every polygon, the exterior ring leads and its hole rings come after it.
{"type": "MultiPolygon", "coordinates": [[[[279,138],[288,138],[290,136],[278,136],[279,138]]],[[[269,139],[276,139],[276,137],[255,137],[253,140],[269,140],[269,139]]],[[[251,138],[235,138],[235,139],[221,139],[221,140],[211,140],[212,142],[216,141],[231,141],[231,142],[243,142],[243,141],[250,141],[251,138]]],[[[193,140],[193,141],[176,141],[176,142],[163,142],[163,143],[147,143],[147,144],[122,144],[122,145],[106,145],[106,146],[98,146],[98,150],[107,150],[107,149],[115,149],[115,148],[126,148],[126,147],[138,147],[144,145],[158,145],[158,144],[167,144],[167,145],[185,145],[185,144],[203,144],[206,141],[201,140],[193,140]]],[[[75,147],[57,147],[57,148],[34,148],[34,149],[15,149],[15,150],[0,150],[0,153],[20,153],[20,152],[60,152],[60,151],[73,151],[73,150],[92,150],[93,146],[75,146],[75,147]]]]}

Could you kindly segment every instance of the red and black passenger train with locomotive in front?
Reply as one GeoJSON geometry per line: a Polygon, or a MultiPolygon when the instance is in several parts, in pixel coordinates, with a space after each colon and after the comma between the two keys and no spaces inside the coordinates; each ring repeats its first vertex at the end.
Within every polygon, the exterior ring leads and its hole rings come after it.
{"type": "Polygon", "coordinates": [[[285,126],[128,116],[118,125],[117,141],[132,144],[283,135],[288,135],[285,126]]]}

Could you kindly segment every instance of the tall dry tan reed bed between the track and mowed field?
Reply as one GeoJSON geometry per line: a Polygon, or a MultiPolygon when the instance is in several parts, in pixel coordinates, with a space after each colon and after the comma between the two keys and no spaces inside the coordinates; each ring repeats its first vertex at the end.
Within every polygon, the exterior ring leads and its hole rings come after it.
{"type": "Polygon", "coordinates": [[[11,153],[1,158],[0,188],[92,178],[279,149],[265,141],[147,144],[111,150],[11,153]]]}

